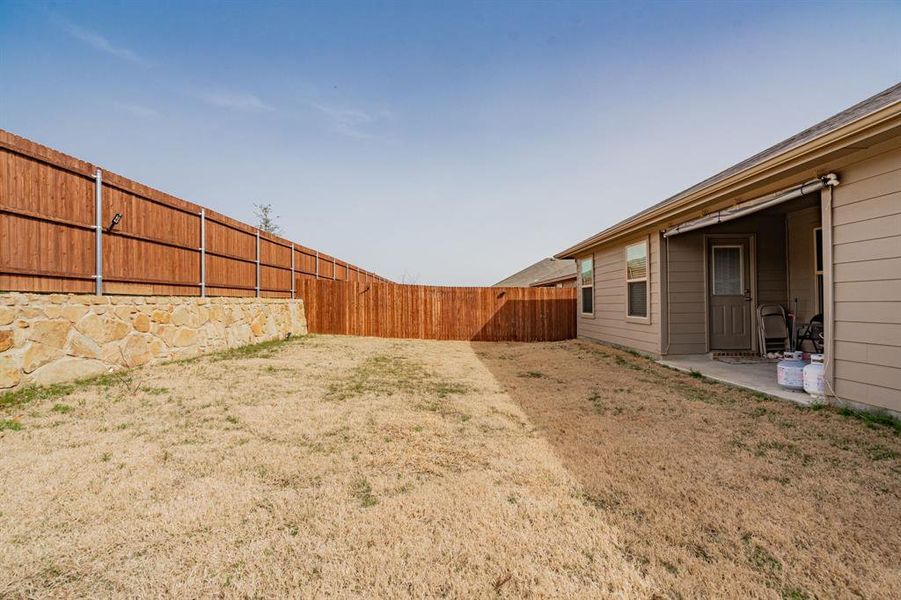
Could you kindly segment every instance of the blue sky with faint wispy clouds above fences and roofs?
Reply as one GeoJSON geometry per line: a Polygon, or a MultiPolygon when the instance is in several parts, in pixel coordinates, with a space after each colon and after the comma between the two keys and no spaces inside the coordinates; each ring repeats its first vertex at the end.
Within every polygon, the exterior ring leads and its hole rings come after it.
{"type": "Polygon", "coordinates": [[[0,0],[0,127],[491,284],[897,83],[898,31],[898,2],[0,0]]]}

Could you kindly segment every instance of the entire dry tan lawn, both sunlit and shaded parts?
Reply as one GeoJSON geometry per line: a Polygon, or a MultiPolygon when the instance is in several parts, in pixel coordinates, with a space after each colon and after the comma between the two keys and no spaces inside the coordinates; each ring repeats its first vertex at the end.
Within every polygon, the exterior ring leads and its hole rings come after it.
{"type": "Polygon", "coordinates": [[[583,342],[311,336],[0,399],[0,597],[901,595],[901,433],[583,342]]]}

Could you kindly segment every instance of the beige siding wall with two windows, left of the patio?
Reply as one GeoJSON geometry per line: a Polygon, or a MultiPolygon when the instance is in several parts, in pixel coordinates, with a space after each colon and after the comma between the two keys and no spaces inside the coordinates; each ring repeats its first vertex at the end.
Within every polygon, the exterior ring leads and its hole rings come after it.
{"type": "MultiPolygon", "coordinates": [[[[588,255],[585,255],[588,256],[588,255]]],[[[579,337],[660,354],[660,236],[629,238],[596,249],[594,254],[594,316],[580,315],[579,337]],[[626,317],[626,246],[648,240],[650,258],[650,322],[626,317]]],[[[580,257],[581,258],[581,257],[580,257]]],[[[580,300],[581,302],[581,300],[580,300]]]]}

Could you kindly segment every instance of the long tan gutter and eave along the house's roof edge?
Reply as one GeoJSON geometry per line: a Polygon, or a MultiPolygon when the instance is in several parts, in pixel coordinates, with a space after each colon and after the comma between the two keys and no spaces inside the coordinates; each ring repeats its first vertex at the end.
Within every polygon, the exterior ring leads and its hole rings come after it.
{"type": "MultiPolygon", "coordinates": [[[[708,186],[692,190],[690,193],[686,192],[684,195],[676,196],[671,202],[668,202],[663,206],[639,212],[632,217],[555,254],[554,258],[576,258],[585,250],[635,233],[641,229],[651,227],[655,223],[665,220],[668,215],[691,207],[692,204],[701,204],[718,199],[721,196],[730,193],[731,190],[740,186],[743,182],[752,178],[760,177],[765,173],[773,174],[778,173],[780,170],[786,170],[789,167],[789,163],[798,162],[804,156],[815,154],[829,146],[835,146],[836,148],[834,149],[838,149],[851,141],[858,142],[858,139],[852,138],[856,138],[859,134],[868,132],[868,130],[886,129],[886,126],[891,127],[898,124],[893,124],[892,121],[901,121],[901,102],[899,101],[884,106],[879,110],[873,111],[860,119],[847,123],[832,131],[828,131],[803,144],[787,148],[785,151],[771,156],[761,163],[742,169],[725,179],[711,182],[708,186]]],[[[879,133],[879,131],[873,131],[872,135],[876,135],[877,133],[879,133]]],[[[869,135],[867,137],[869,137],[869,135]]]]}

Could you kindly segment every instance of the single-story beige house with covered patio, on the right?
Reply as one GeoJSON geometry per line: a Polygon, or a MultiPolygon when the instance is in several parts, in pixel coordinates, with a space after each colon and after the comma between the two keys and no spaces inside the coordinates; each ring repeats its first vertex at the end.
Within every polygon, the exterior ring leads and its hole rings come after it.
{"type": "Polygon", "coordinates": [[[581,338],[702,364],[758,352],[760,305],[822,314],[827,393],[901,413],[901,84],[556,258],[581,338]]]}

